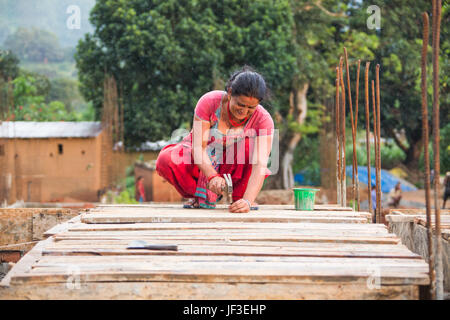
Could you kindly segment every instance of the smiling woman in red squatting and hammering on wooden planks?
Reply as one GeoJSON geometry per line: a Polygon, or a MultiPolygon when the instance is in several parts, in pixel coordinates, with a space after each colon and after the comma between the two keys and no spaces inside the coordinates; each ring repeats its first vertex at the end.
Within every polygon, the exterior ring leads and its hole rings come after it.
{"type": "Polygon", "coordinates": [[[274,124],[259,104],[266,97],[263,77],[249,67],[235,72],[225,91],[203,95],[194,111],[192,131],[182,142],[161,150],[156,170],[185,198],[187,206],[214,208],[231,174],[230,212],[249,212],[264,179],[274,124]]]}

